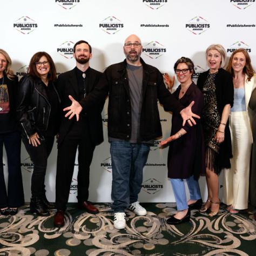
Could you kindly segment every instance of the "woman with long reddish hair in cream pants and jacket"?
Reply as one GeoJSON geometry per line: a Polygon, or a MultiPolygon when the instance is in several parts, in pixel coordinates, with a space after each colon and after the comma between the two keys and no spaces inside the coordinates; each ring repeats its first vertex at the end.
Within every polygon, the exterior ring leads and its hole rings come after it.
{"type": "Polygon", "coordinates": [[[245,49],[235,50],[227,66],[234,84],[234,105],[230,112],[233,158],[224,172],[224,203],[227,211],[238,213],[248,208],[250,156],[253,143],[251,109],[248,106],[256,87],[256,75],[245,49]]]}

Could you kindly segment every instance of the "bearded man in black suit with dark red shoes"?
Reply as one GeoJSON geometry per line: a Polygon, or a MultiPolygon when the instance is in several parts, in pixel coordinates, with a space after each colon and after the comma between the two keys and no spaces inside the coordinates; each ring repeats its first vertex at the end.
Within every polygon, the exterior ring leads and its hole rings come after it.
{"type": "MultiPolygon", "coordinates": [[[[102,73],[90,68],[92,48],[86,41],[78,41],[73,47],[76,67],[62,73],[57,80],[62,109],[70,105],[71,99],[78,101],[90,94],[102,73]]],[[[56,173],[56,208],[54,225],[65,224],[64,212],[69,199],[76,152],[78,147],[77,199],[78,207],[89,213],[98,209],[89,201],[90,164],[95,146],[103,142],[102,116],[105,99],[90,110],[82,111],[79,120],[68,119],[62,113],[58,138],[58,157],[56,173]]]]}

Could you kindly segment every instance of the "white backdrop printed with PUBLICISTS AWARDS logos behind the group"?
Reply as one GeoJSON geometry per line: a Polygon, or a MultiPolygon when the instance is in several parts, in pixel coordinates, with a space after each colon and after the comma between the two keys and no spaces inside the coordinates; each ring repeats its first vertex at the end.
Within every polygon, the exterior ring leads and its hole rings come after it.
{"type": "MultiPolygon", "coordinates": [[[[195,64],[196,77],[207,70],[205,50],[220,43],[227,55],[245,48],[256,65],[255,0],[3,0],[1,1],[0,48],[12,58],[12,68],[21,78],[37,51],[48,52],[57,72],[75,67],[73,45],[83,39],[92,45],[90,65],[99,71],[124,59],[123,44],[135,33],[142,39],[142,58],[162,73],[173,75],[173,64],[181,56],[195,64]]],[[[176,81],[175,86],[178,86],[176,81]]],[[[159,105],[163,137],[169,137],[171,114],[159,105]]],[[[107,100],[102,112],[104,143],[96,147],[91,164],[90,200],[111,201],[112,167],[107,141],[107,100]]],[[[167,179],[167,151],[159,149],[160,139],[151,147],[144,169],[139,200],[174,201],[167,179]]],[[[69,151],[67,149],[67,154],[69,151]]],[[[49,157],[45,184],[47,196],[55,200],[57,146],[49,157]]],[[[30,200],[33,164],[22,145],[22,174],[25,200],[30,200]]],[[[4,172],[8,180],[6,156],[4,172]]],[[[76,201],[78,161],[70,187],[69,201],[76,201]]],[[[200,178],[206,197],[205,177],[200,178]]],[[[221,192],[221,190],[220,190],[221,192]]]]}

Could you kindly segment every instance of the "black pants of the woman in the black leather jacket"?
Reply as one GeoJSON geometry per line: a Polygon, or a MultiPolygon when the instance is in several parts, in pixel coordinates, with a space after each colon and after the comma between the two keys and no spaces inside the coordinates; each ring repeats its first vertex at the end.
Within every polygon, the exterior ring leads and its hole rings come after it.
{"type": "Polygon", "coordinates": [[[43,137],[39,139],[41,145],[37,147],[29,144],[28,138],[22,136],[22,141],[28,151],[31,161],[34,164],[34,169],[31,177],[31,194],[32,197],[42,198],[45,189],[44,189],[44,178],[47,167],[47,159],[51,153],[54,136],[43,137]]]}

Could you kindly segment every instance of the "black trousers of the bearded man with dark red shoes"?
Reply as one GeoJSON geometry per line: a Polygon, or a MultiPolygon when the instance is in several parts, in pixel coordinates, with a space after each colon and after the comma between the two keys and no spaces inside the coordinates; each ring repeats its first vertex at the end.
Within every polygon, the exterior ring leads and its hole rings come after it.
{"type": "Polygon", "coordinates": [[[73,177],[78,148],[77,199],[87,201],[89,197],[90,165],[95,150],[85,120],[79,120],[71,127],[63,142],[58,146],[56,173],[56,208],[66,210],[70,185],[73,177]]]}

